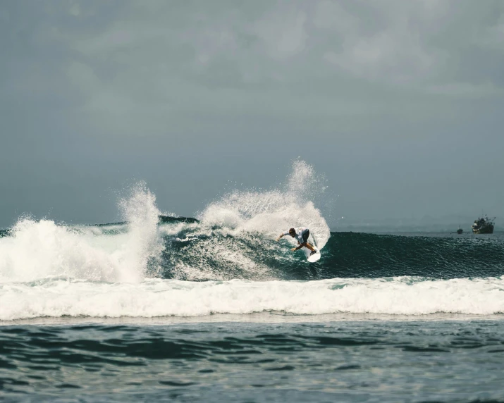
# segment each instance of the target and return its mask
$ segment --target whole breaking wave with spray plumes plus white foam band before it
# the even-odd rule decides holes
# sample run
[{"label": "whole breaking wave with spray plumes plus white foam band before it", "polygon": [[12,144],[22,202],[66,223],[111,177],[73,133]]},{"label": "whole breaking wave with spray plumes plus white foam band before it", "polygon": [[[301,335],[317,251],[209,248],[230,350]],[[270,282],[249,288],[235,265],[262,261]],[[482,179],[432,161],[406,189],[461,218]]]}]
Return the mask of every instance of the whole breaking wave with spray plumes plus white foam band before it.
[{"label": "whole breaking wave with spray plumes plus white foam band before it", "polygon": [[[20,219],[0,233],[0,320],[504,312],[502,235],[331,233],[318,178],[296,161],[285,185],[229,192],[196,218],[161,214],[140,183],[121,223]],[[319,262],[276,242],[293,226],[310,229]]]}]

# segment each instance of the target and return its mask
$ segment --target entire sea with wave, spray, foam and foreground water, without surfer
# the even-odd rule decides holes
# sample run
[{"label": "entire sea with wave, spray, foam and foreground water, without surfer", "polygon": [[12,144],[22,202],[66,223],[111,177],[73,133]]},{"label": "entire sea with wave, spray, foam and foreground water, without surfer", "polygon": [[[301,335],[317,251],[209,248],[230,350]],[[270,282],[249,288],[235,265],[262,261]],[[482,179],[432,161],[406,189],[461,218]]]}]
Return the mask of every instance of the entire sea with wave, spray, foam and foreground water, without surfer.
[{"label": "entire sea with wave, spray, foam and foreground water, without surfer", "polygon": [[2,230],[0,400],[504,402],[503,234],[331,232],[317,178]]}]

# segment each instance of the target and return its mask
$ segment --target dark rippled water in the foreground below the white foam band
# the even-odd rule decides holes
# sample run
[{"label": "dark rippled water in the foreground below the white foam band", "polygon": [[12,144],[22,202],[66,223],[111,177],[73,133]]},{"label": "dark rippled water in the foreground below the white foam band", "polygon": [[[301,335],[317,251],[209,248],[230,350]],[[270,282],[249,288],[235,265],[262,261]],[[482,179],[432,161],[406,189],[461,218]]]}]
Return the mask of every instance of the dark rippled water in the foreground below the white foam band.
[{"label": "dark rippled water in the foreground below the white foam band", "polygon": [[1,399],[504,401],[504,321],[0,327]]}]

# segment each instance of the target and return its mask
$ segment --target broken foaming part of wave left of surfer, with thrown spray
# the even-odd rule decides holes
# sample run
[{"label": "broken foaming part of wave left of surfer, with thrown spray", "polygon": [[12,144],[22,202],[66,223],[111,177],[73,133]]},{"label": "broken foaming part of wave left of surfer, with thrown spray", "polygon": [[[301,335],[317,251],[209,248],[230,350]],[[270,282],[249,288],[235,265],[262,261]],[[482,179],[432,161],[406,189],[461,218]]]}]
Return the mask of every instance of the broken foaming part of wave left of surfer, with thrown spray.
[{"label": "broken foaming part of wave left of surfer, with thrown spray", "polygon": [[0,238],[0,281],[55,275],[136,283],[289,278],[283,268],[299,265],[300,256],[288,253],[292,240],[274,242],[278,234],[307,226],[320,249],[331,236],[314,205],[324,192],[318,178],[312,166],[295,161],[285,186],[229,192],[197,218],[161,214],[143,183],[120,200],[119,223],[72,226],[23,218]]}]

